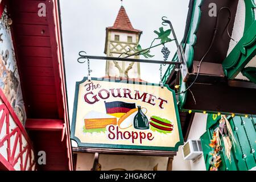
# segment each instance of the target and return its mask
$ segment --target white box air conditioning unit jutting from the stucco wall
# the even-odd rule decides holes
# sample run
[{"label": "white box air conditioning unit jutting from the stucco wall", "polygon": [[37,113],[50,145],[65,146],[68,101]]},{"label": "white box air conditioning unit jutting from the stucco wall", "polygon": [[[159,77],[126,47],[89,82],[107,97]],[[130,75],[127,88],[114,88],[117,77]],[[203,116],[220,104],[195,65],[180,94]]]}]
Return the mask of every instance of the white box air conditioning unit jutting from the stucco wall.
[{"label": "white box air conditioning unit jutting from the stucco wall", "polygon": [[189,139],[182,147],[184,160],[195,160],[203,154],[201,140]]}]

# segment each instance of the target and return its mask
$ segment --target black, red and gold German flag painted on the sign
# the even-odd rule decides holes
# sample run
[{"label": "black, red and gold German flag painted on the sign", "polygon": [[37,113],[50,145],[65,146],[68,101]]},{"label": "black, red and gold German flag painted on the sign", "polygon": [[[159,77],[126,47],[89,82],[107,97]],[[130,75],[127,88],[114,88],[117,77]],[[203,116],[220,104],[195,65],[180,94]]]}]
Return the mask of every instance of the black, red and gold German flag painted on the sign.
[{"label": "black, red and gold German flag painted on the sign", "polygon": [[135,103],[126,103],[121,101],[105,102],[106,113],[113,115],[114,117],[122,117],[131,109],[135,109]]}]

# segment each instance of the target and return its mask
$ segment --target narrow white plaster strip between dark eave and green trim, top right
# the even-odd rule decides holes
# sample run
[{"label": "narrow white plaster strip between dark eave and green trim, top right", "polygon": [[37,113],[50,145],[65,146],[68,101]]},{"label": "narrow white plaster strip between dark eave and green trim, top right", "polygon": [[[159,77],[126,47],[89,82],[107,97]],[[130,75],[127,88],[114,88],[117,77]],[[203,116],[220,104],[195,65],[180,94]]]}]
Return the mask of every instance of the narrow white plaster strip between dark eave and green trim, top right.
[{"label": "narrow white plaster strip between dark eave and green trim, top right", "polygon": [[244,28],[245,28],[245,2],[243,0],[239,0],[237,5],[237,13],[234,20],[232,36],[231,36],[236,41],[230,39],[227,56],[232,51],[232,49],[236,46],[237,42],[239,42],[239,40],[242,38]]}]

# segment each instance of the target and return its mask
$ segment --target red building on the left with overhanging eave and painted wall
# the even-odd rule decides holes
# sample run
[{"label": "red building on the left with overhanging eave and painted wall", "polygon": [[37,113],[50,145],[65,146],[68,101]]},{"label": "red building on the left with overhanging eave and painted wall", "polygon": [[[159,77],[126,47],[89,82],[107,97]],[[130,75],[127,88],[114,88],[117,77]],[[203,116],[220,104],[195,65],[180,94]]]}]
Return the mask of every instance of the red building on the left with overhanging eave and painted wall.
[{"label": "red building on the left with overhanging eave and painted wall", "polygon": [[0,170],[72,170],[57,1],[0,1]]}]

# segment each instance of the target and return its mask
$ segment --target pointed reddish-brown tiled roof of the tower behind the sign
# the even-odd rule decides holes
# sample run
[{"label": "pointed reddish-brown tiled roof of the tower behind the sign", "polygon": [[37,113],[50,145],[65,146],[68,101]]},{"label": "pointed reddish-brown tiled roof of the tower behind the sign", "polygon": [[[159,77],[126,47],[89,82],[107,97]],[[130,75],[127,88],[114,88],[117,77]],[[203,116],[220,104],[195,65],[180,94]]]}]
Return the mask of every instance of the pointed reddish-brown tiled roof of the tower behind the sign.
[{"label": "pointed reddish-brown tiled roof of the tower behind the sign", "polygon": [[142,32],[141,30],[134,29],[131,25],[130,19],[126,14],[125,8],[121,6],[117,18],[115,19],[114,26],[108,27],[109,30],[123,30],[130,32]]}]

